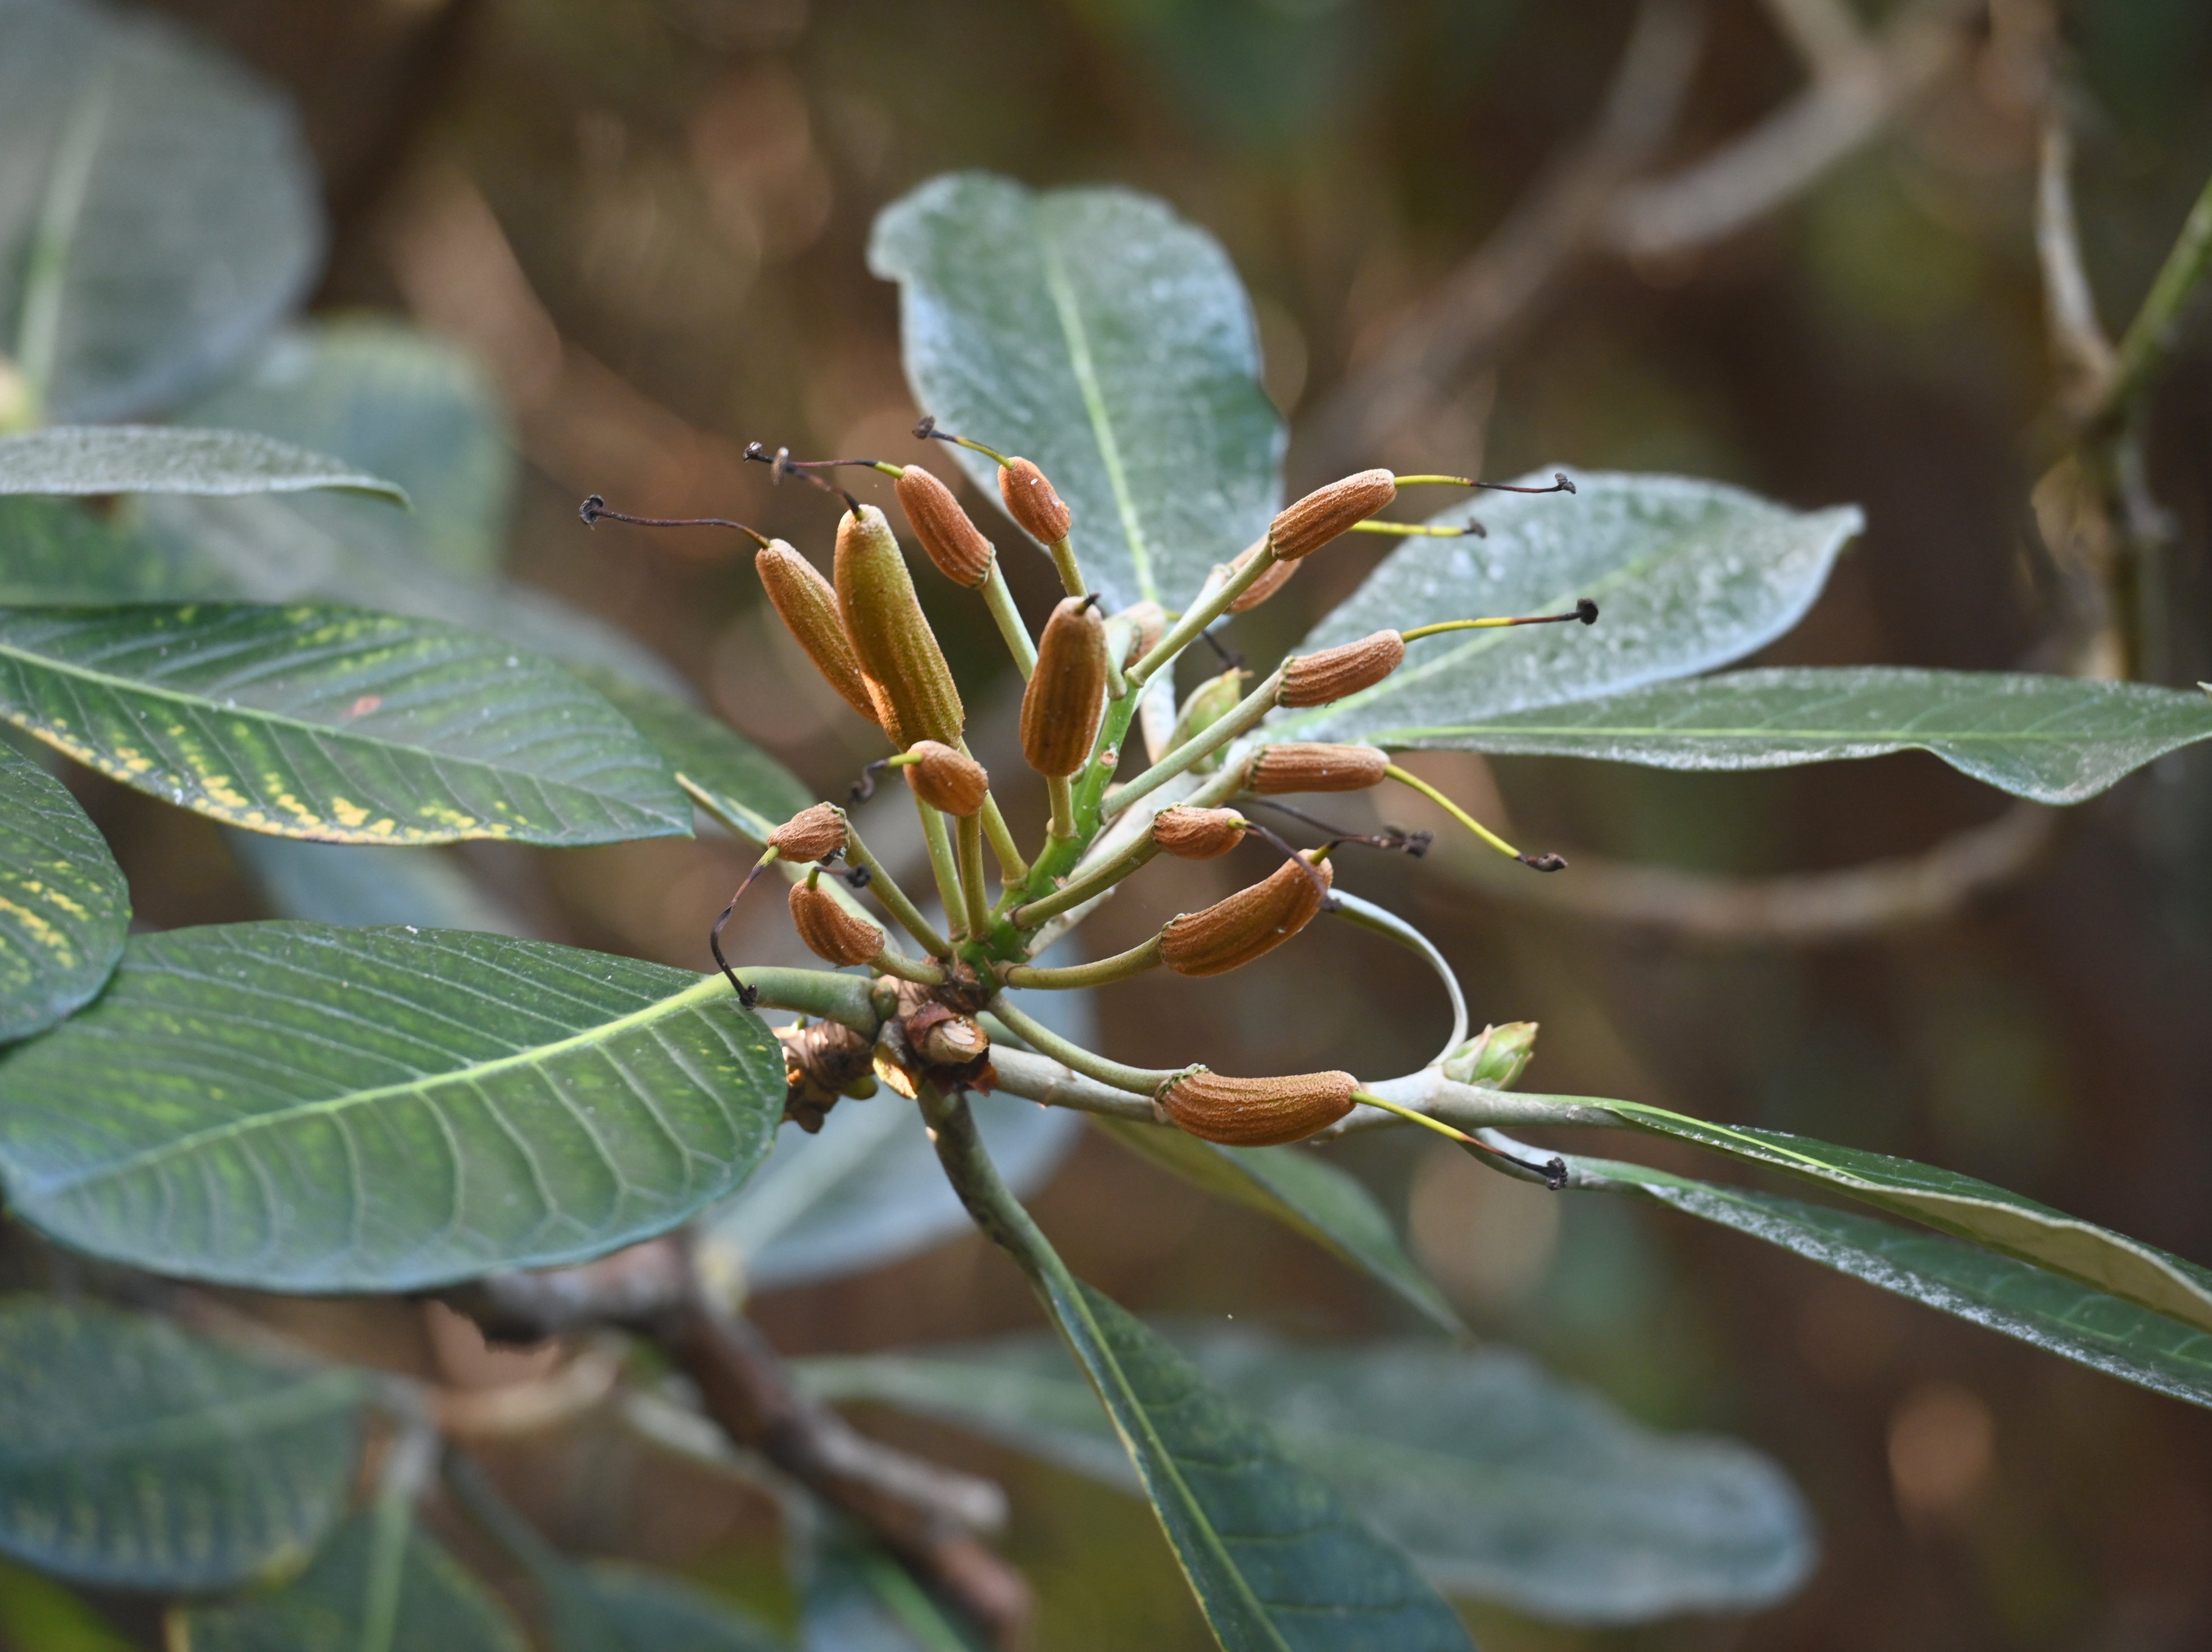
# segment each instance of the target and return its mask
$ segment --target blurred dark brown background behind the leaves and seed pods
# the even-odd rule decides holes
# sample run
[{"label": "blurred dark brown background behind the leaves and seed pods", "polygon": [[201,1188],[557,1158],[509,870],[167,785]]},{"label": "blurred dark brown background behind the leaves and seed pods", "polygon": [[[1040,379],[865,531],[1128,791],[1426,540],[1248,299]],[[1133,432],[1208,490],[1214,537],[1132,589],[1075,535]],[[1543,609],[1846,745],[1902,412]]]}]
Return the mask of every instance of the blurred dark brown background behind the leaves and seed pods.
[{"label": "blurred dark brown background behind the leaves and seed pods", "polygon": [[[894,292],[863,263],[874,212],[938,170],[1126,181],[1212,228],[1254,292],[1267,389],[1294,427],[1292,489],[1356,464],[1506,475],[1557,460],[1719,475],[1798,506],[1856,500],[1865,540],[1763,659],[2048,668],[2057,577],[2028,509],[2055,385],[2033,248],[2048,77],[2073,113],[2086,261],[2115,330],[2212,168],[2201,0],[1918,7],[1944,15],[1947,51],[1807,188],[1694,245],[1559,259],[1511,325],[1413,394],[1376,398],[1363,372],[1433,327],[1467,259],[1593,128],[1630,7],[161,9],[299,97],[334,215],[316,310],[409,314],[482,363],[526,458],[509,571],[659,650],[825,796],[876,752],[801,668],[745,557],[714,535],[588,533],[575,502],[714,511],[821,548],[825,500],[772,491],[739,462],[748,440],[942,464],[907,433]],[[1860,4],[1869,29],[1911,9]],[[1823,11],[1710,0],[1650,164],[1692,164],[1796,97],[1807,71],[1778,24]],[[2170,683],[2212,675],[2208,453],[2199,327],[2148,449],[2172,542],[2146,663]],[[1287,646],[1380,548],[1347,542],[1243,621],[1239,646]],[[1048,599],[1042,557],[1011,575],[1029,606]],[[925,595],[978,743],[1009,745],[1015,683],[980,610],[942,584]],[[1759,776],[1427,765],[1544,847],[1699,874],[1907,856],[1997,812],[1924,756]],[[261,911],[215,827],[111,787],[95,803],[148,924]],[[1425,922],[1478,1020],[1542,1022],[1535,1088],[1913,1154],[2205,1261],[2208,827],[2212,763],[2166,759],[2070,814],[2000,887],[1816,944],[1546,911],[1374,860],[1360,887]],[[518,927],[701,969],[706,920],[741,869],[728,840],[465,858]],[[1159,865],[1093,944],[1128,944],[1230,876]],[[752,909],[732,955],[796,958],[776,905]],[[1433,1048],[1444,1006],[1418,964],[1343,933],[1225,980],[1124,984],[1099,1017],[1104,1048],[1135,1062],[1188,1059],[1203,1037],[1228,1070],[1400,1070]],[[1641,1420],[1772,1451],[1825,1528],[1814,1583],[1756,1619],[1577,1632],[1482,1610],[1486,1648],[2212,1643],[2212,1418],[1719,1230],[1553,1201],[1449,1148],[1367,1139],[1345,1157],[1402,1201],[1420,1256],[1482,1331]],[[1409,1329],[1318,1252],[1099,1139],[1037,1212],[1079,1274],[1148,1314]],[[1033,1322],[1013,1269],[969,1236],[754,1309],[792,1353]],[[285,1311],[347,1353],[458,1384],[498,1384],[522,1358],[400,1303]],[[1040,1590],[1040,1648],[1206,1643],[1141,1504],[951,1431],[865,1420],[1011,1486],[1009,1552]],[[509,1468],[509,1493],[564,1544],[790,1610],[765,1502],[591,1433]],[[93,1645],[40,1588],[0,1575],[0,1634]]]}]

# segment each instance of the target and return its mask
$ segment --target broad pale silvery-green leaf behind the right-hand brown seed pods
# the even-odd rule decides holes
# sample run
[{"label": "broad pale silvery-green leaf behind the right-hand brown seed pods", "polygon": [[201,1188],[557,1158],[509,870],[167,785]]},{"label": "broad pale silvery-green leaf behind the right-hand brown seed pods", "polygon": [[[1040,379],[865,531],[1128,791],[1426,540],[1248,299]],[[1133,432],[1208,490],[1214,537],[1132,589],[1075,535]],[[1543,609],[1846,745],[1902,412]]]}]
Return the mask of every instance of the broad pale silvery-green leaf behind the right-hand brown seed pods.
[{"label": "broad pale silvery-green leaf behind the right-hand brown seed pods", "polygon": [[[1369,741],[1376,730],[1455,728],[1725,666],[1803,619],[1860,531],[1854,506],[1790,511],[1683,475],[1590,471],[1575,487],[1482,495],[1486,540],[1407,540],[1298,648],[1440,619],[1564,613],[1577,597],[1597,602],[1595,626],[1425,637],[1389,679],[1274,717],[1265,736]],[[1436,520],[1467,515],[1462,504]]]}]

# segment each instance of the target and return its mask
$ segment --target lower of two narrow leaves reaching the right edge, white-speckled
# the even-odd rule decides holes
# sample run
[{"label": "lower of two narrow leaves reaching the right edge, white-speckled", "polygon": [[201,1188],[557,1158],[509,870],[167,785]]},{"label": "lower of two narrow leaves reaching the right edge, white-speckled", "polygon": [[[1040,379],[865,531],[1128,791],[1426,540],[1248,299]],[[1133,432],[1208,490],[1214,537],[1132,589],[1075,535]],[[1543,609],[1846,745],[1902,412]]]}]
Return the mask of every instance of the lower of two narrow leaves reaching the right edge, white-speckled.
[{"label": "lower of two narrow leaves reaching the right edge, white-speckled", "polygon": [[1568,1159],[1568,1168],[2121,1382],[2212,1407],[2212,1334],[2042,1267],[1918,1227],[1750,1188],[1719,1188],[1610,1159]]}]

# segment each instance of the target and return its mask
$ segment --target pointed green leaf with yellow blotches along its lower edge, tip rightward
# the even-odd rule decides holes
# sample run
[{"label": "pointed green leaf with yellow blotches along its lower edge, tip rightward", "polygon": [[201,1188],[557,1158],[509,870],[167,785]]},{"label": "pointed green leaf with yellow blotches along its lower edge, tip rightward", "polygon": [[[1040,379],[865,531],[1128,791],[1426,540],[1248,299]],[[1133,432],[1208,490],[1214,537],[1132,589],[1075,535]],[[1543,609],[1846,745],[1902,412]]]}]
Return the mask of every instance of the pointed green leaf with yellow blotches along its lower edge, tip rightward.
[{"label": "pointed green leaf with yellow blotches along its lower edge, tip rightward", "polygon": [[0,717],[139,792],[323,843],[690,834],[659,756],[551,661],[429,619],[0,610]]}]

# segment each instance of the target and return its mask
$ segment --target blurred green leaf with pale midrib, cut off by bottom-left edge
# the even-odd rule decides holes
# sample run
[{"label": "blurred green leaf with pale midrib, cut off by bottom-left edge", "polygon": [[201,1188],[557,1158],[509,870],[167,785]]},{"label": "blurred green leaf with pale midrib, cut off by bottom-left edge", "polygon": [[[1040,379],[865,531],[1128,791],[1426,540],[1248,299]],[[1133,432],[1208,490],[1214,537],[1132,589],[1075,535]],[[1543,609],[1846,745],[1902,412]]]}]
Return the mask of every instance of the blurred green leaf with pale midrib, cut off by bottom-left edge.
[{"label": "blurred green leaf with pale midrib, cut off by bottom-left edge", "polygon": [[356,1515],[296,1581],[170,1614],[188,1652],[526,1652],[507,1608],[407,1510]]}]

